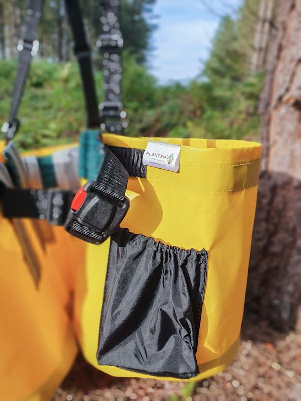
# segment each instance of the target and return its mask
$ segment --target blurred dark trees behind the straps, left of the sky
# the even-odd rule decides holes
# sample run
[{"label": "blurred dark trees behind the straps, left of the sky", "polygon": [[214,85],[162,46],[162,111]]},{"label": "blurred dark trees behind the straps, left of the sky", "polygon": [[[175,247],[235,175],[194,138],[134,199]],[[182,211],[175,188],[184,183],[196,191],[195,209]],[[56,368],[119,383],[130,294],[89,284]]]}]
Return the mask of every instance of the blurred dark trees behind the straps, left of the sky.
[{"label": "blurred dark trees behind the straps, left of the sky", "polygon": [[[152,12],[156,0],[121,0],[121,28],[124,48],[136,56],[138,62],[145,61],[150,47],[150,34],[155,25],[146,19]],[[99,35],[100,0],[80,0],[86,31],[94,54]],[[20,28],[26,8],[25,0],[1,0],[0,4],[0,57],[14,57],[20,39]],[[72,58],[72,38],[64,7],[64,0],[46,0],[39,29],[40,55],[55,61]]]}]

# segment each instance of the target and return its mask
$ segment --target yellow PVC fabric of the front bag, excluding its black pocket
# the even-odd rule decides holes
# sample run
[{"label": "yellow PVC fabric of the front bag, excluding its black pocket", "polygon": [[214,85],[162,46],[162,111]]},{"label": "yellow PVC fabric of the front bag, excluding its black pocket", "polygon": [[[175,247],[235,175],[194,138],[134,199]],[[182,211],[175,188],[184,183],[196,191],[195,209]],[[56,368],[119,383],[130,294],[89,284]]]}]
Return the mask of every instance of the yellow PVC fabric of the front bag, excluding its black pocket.
[{"label": "yellow PVC fabric of the front bag, excluding its black pocket", "polygon": [[[189,379],[199,380],[223,370],[237,351],[261,145],[234,140],[154,140],[181,145],[179,172],[147,167],[146,179],[130,177],[126,195],[131,204],[122,227],[165,244],[208,251],[196,353],[200,374]],[[111,134],[103,135],[103,142],[138,149],[147,145],[146,138]],[[77,336],[86,359],[97,369],[113,376],[150,377],[99,366],[96,360],[109,245],[109,240],[100,246],[88,244],[85,268],[77,271]]]}]

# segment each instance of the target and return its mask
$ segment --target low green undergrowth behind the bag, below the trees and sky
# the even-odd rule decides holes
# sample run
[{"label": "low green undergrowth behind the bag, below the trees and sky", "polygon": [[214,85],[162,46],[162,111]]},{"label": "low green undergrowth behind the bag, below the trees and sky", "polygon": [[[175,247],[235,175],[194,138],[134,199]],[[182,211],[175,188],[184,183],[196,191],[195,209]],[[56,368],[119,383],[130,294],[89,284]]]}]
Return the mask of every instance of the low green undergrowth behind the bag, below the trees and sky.
[{"label": "low green undergrowth behind the bag, below the trees and sky", "polygon": [[[156,80],[133,56],[126,56],[124,103],[131,136],[204,138],[256,137],[256,104],[261,78],[241,83],[192,81],[156,85]],[[15,72],[12,61],[0,62],[0,120],[6,121]],[[96,74],[99,100],[102,76]],[[16,144],[28,149],[77,139],[85,127],[85,106],[75,63],[33,63],[19,112],[21,128]]]}]

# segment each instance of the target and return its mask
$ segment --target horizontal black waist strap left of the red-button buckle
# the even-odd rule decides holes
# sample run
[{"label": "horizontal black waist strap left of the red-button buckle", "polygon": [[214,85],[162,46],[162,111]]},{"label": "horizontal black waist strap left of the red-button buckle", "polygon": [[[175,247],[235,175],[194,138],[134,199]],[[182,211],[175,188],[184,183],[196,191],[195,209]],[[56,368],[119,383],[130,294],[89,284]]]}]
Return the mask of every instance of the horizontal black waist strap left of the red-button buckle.
[{"label": "horizontal black waist strap left of the red-button buckle", "polygon": [[69,212],[74,192],[3,188],[2,207],[6,218],[32,218],[63,225]]}]

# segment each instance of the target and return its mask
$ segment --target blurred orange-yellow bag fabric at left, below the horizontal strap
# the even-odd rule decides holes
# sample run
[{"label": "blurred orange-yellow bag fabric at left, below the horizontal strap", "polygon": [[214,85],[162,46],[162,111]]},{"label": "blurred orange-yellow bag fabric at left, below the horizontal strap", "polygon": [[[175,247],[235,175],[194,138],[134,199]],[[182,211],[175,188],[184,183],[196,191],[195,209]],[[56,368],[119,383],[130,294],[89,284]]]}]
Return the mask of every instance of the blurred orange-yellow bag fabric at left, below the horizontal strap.
[{"label": "blurred orange-yellow bag fabric at left, below the horizontal strap", "polygon": [[43,243],[37,222],[0,216],[0,388],[6,401],[49,400],[77,353],[72,292],[85,247],[63,227],[45,227]]}]

